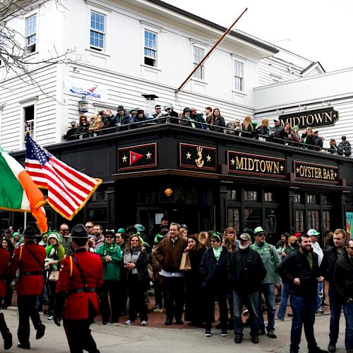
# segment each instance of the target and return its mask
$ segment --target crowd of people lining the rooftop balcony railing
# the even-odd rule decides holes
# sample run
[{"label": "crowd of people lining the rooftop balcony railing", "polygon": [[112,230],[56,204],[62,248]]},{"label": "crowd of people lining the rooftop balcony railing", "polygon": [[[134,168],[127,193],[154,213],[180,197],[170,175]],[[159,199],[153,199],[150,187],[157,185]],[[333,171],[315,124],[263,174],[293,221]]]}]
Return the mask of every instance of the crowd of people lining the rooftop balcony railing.
[{"label": "crowd of people lining the rooftop balcony railing", "polygon": [[163,124],[169,121],[172,124],[191,126],[193,128],[207,129],[218,133],[228,133],[234,136],[253,138],[256,140],[266,140],[284,145],[306,148],[309,150],[327,150],[333,155],[351,155],[351,146],[346,136],[342,136],[342,141],[336,145],[334,138],[330,139],[329,148],[323,148],[322,136],[318,131],[313,131],[311,126],[299,134],[298,126],[281,124],[281,121],[274,119],[274,126],[270,127],[270,120],[263,119],[261,123],[252,121],[251,116],[246,116],[244,121],[236,118],[226,124],[220,109],[205,107],[205,116],[198,112],[196,107],[185,107],[183,112],[174,111],[172,104],[164,105],[164,112],[160,104],[155,105],[155,113],[147,116],[143,109],[137,107],[125,109],[122,105],[117,108],[116,115],[110,109],[101,110],[93,114],[88,121],[85,115],[80,116],[79,123],[71,121],[71,128],[64,134],[64,139],[74,140],[78,138],[88,138],[101,133],[112,133],[124,131],[130,128],[140,128],[151,124]]}]

